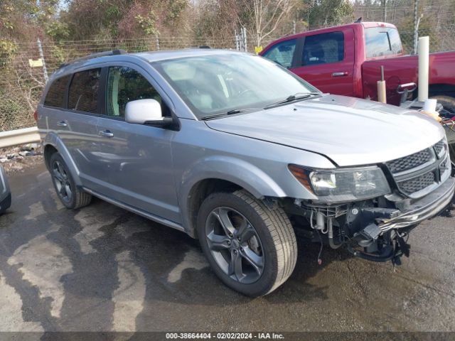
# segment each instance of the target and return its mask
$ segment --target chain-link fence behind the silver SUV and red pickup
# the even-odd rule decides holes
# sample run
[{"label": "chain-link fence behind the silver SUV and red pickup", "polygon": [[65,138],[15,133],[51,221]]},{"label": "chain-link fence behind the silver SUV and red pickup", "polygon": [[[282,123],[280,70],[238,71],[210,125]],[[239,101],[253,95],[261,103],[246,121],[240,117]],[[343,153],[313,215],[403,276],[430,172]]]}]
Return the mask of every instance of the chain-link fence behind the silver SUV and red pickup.
[{"label": "chain-link fence behind the silver SUV and red pickup", "polygon": [[[414,33],[402,32],[405,53],[412,53]],[[274,37],[278,38],[278,37]],[[263,46],[274,40],[268,38]],[[431,37],[432,52],[455,50],[455,27]],[[247,43],[248,41],[248,43]],[[254,46],[245,40],[250,52]],[[46,74],[50,75],[62,63],[90,53],[121,48],[130,53],[147,50],[173,50],[208,45],[211,48],[238,49],[238,37],[226,36],[210,39],[153,37],[132,40],[85,40],[53,43],[43,41],[21,43],[11,55],[0,54],[0,131],[34,126],[33,112],[45,86]],[[242,47],[241,47],[242,48]]]}]

